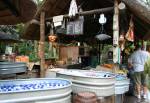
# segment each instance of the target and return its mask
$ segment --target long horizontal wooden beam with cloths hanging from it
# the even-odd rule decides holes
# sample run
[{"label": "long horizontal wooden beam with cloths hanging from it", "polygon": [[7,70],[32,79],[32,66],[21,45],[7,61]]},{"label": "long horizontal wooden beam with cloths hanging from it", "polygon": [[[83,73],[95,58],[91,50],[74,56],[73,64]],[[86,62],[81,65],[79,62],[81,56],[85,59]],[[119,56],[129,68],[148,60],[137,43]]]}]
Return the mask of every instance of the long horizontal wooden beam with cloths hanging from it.
[{"label": "long horizontal wooden beam with cloths hanging from it", "polygon": [[[90,15],[90,14],[99,14],[99,13],[106,13],[106,12],[110,12],[113,11],[114,7],[107,7],[107,8],[101,8],[101,9],[95,9],[95,10],[90,10],[90,11],[83,11],[83,12],[79,12],[77,13],[77,15],[81,15],[81,16],[86,16],[86,15]],[[69,15],[63,15],[64,18],[68,18]],[[52,20],[52,17],[50,18],[46,18],[47,21]]]}]

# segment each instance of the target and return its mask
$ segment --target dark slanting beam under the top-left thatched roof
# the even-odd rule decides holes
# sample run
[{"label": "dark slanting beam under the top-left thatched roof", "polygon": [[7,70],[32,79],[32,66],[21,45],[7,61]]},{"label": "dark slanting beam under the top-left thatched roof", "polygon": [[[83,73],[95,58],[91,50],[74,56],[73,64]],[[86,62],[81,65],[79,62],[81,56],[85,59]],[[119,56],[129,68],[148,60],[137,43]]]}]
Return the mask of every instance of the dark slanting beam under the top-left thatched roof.
[{"label": "dark slanting beam under the top-left thatched roof", "polygon": [[11,0],[2,0],[2,2],[9,8],[13,15],[19,16],[19,11],[16,6],[10,2]]}]

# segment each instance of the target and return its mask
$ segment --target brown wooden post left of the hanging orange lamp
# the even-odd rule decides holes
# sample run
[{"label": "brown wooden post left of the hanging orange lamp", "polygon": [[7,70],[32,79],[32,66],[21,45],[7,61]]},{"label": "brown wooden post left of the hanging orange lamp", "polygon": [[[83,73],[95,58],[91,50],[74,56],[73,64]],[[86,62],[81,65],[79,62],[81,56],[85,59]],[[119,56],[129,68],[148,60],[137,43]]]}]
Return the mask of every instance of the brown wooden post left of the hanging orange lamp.
[{"label": "brown wooden post left of the hanging orange lamp", "polygon": [[45,77],[45,57],[44,57],[44,42],[45,42],[45,12],[40,15],[40,42],[39,42],[39,57],[40,57],[40,77]]}]

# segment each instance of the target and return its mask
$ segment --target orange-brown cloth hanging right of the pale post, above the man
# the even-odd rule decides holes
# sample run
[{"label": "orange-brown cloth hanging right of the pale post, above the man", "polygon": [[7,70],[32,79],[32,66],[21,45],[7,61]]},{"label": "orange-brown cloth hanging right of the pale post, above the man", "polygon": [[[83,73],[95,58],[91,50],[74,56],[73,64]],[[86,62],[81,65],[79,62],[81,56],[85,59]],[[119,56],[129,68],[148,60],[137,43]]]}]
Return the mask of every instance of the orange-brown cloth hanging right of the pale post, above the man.
[{"label": "orange-brown cloth hanging right of the pale post, above the man", "polygon": [[128,41],[134,42],[134,24],[133,24],[132,17],[130,19],[129,29],[125,37]]}]

